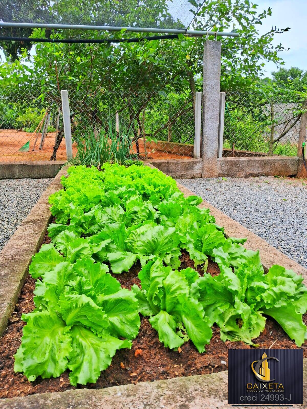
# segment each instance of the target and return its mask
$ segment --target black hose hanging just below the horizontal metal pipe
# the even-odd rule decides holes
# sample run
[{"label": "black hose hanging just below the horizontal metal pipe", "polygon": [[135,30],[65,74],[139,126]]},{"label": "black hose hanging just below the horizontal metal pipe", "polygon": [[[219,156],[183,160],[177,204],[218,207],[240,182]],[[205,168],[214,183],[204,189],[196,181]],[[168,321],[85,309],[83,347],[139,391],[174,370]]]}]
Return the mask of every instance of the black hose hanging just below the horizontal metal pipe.
[{"label": "black hose hanging just below the horizontal metal pipe", "polygon": [[152,40],[164,40],[166,38],[177,38],[178,39],[178,34],[168,34],[165,36],[151,36],[151,37],[140,37],[140,38],[127,38],[126,40],[124,38],[120,39],[109,39],[109,38],[102,38],[102,39],[95,39],[95,38],[90,38],[90,39],[83,39],[80,38],[74,39],[74,38],[29,38],[29,37],[0,37],[0,41],[24,41],[26,43],[73,43],[73,44],[79,44],[79,43],[85,43],[85,44],[103,44],[103,43],[138,43],[142,40],[147,40],[147,41],[152,41]]}]

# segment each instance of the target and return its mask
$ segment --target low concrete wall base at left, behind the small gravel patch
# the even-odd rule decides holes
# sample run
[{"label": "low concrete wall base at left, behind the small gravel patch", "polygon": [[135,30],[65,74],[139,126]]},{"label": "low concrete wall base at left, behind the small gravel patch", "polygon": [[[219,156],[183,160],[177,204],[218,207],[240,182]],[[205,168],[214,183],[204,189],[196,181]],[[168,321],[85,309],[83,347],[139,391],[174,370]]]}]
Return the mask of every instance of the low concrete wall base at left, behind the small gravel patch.
[{"label": "low concrete wall base at left, behind the small gravel patch", "polygon": [[54,178],[65,161],[0,162],[0,179]]}]

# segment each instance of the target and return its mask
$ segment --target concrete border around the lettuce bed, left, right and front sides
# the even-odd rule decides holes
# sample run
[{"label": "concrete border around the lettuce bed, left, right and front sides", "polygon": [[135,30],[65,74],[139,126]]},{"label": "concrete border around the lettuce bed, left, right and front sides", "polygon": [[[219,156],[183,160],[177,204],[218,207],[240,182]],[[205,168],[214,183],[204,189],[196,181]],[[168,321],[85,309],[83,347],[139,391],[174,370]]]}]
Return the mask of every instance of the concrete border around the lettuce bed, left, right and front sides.
[{"label": "concrete border around the lettuce bed, left, right and front sides", "polygon": [[[154,168],[149,162],[145,165]],[[62,169],[45,190],[27,218],[11,237],[0,253],[0,336],[7,328],[7,322],[14,310],[20,290],[28,274],[29,263],[43,242],[51,219],[48,197],[62,188]],[[194,193],[177,183],[185,197]],[[226,236],[246,237],[245,247],[259,249],[265,270],[273,264],[291,268],[304,277],[307,283],[307,270],[295,261],[276,250],[265,240],[251,233],[224,213],[203,201],[200,207],[209,207],[217,224],[224,226]],[[106,389],[75,389],[64,392],[42,393],[27,397],[0,400],[1,409],[226,409],[228,373],[222,371],[212,375],[195,375],[155,382],[109,387]],[[304,359],[304,404],[307,406],[307,359]],[[299,409],[301,405],[294,405]],[[260,408],[260,407],[258,407]]]}]

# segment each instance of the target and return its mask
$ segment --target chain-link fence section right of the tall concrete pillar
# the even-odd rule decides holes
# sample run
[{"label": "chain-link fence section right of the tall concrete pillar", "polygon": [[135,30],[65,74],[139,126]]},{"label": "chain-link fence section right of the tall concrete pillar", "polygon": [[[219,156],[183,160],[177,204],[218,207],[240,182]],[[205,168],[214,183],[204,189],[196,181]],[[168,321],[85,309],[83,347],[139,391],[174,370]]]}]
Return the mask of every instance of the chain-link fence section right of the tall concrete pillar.
[{"label": "chain-link fence section right of the tall concrete pillar", "polygon": [[302,101],[226,92],[223,157],[297,155]]}]

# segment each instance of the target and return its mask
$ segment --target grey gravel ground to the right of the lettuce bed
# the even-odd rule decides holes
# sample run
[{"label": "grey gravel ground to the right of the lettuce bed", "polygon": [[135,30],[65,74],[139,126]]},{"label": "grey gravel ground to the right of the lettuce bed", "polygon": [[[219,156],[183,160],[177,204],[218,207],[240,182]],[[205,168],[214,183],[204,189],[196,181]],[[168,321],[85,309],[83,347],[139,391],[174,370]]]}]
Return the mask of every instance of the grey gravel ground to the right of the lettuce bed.
[{"label": "grey gravel ground to the right of the lettuce bed", "polygon": [[291,178],[179,179],[307,268],[307,184]]}]

